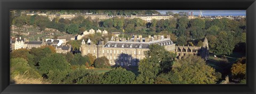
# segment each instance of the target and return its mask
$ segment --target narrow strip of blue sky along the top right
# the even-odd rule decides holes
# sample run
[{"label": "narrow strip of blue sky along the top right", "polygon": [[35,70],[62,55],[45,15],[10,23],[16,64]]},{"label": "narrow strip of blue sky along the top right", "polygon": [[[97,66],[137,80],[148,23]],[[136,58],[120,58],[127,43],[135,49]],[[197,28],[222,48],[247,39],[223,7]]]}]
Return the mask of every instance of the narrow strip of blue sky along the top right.
[{"label": "narrow strip of blue sky along the top right", "polygon": [[[173,13],[179,13],[179,12],[193,12],[193,15],[199,15],[200,11],[199,10],[156,10],[160,12],[161,14],[165,14],[168,11],[171,11]],[[206,16],[227,16],[227,15],[246,15],[246,10],[201,10],[203,15]]]}]

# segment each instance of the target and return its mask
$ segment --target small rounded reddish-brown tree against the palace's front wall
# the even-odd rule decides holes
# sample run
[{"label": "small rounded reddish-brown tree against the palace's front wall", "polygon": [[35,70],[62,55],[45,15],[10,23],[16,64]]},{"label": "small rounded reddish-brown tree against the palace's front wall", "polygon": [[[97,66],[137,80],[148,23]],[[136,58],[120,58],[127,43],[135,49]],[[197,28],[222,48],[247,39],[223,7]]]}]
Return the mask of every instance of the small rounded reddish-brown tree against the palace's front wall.
[{"label": "small rounded reddish-brown tree against the palace's front wall", "polygon": [[108,58],[103,56],[95,59],[94,66],[96,68],[104,68],[104,67],[110,67],[110,64],[109,64]]}]

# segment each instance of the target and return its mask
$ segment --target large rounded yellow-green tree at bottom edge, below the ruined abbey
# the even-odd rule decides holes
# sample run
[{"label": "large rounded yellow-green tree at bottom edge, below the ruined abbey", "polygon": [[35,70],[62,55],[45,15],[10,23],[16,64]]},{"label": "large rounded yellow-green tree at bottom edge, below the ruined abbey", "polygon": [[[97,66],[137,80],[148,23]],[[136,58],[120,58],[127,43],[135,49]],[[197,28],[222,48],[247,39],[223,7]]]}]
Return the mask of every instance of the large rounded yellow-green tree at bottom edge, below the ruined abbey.
[{"label": "large rounded yellow-green tree at bottom edge, below the ruined abbey", "polygon": [[215,70],[199,56],[191,55],[175,62],[172,71],[172,75],[178,77],[178,82],[185,84],[214,84],[218,81]]}]

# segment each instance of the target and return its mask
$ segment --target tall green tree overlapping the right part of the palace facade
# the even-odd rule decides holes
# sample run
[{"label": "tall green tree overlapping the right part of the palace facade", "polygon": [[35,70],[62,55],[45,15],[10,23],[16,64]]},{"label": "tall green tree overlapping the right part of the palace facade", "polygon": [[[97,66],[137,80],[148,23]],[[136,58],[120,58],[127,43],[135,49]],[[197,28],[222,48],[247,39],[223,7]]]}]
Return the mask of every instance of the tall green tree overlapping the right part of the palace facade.
[{"label": "tall green tree overlapping the right part of the palace facade", "polygon": [[150,45],[145,55],[146,58],[139,63],[140,74],[137,83],[154,83],[159,73],[167,73],[171,70],[176,56],[160,45]]}]

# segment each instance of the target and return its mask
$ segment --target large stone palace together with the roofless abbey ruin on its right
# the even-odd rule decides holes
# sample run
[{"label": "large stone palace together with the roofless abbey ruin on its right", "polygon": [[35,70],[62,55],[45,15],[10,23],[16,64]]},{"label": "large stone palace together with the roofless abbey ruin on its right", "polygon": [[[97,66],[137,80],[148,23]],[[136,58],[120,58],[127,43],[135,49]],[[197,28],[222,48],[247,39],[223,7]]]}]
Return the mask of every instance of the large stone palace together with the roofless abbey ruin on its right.
[{"label": "large stone palace together with the roofless abbey ruin on its right", "polygon": [[106,44],[102,44],[99,40],[94,44],[90,39],[82,41],[81,54],[92,54],[94,56],[106,56],[110,65],[135,66],[138,65],[140,59],[145,57],[145,51],[149,50],[149,45],[161,45],[170,52],[177,53],[177,59],[182,59],[185,55],[198,55],[205,60],[209,57],[209,45],[205,38],[202,47],[192,46],[175,46],[170,36],[154,36],[142,38],[142,36],[134,36],[131,39],[112,38]]}]

